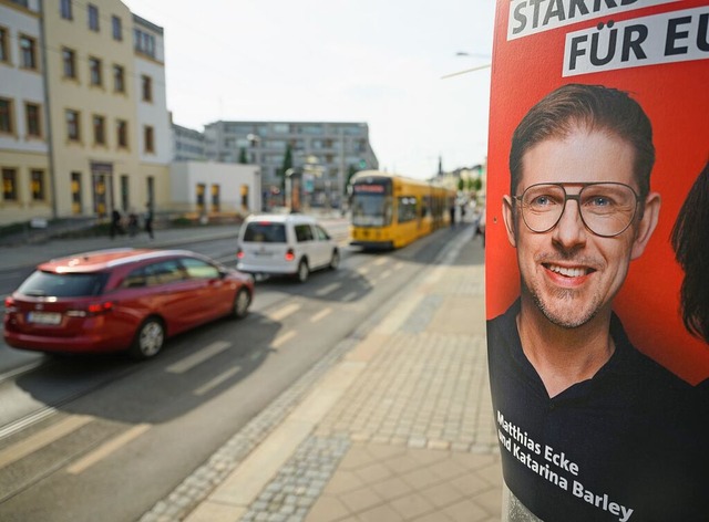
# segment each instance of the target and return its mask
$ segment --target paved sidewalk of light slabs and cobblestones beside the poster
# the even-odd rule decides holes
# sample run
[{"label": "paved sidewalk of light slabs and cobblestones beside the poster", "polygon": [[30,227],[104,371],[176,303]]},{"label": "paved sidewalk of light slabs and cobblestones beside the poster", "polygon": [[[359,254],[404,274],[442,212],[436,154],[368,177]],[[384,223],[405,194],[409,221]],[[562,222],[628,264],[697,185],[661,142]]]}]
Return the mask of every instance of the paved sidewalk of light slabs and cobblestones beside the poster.
[{"label": "paved sidewalk of light slabs and cobblestones beside the poster", "polygon": [[388,310],[142,522],[501,520],[473,227]]}]

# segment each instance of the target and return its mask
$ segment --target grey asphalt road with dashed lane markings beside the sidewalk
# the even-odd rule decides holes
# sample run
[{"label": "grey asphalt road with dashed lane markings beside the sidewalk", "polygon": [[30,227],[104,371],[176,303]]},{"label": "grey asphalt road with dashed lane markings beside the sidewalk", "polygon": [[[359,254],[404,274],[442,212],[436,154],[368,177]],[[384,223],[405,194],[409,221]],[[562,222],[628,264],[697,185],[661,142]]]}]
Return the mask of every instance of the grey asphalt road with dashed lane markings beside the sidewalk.
[{"label": "grey asphalt road with dashed lane markings beside the sidewalk", "polygon": [[[454,232],[390,253],[343,248],[305,284],[257,282],[250,314],[155,359],[0,346],[0,520],[134,521],[341,343],[362,335]],[[197,248],[195,248],[197,247]],[[233,240],[189,246],[234,263]]]}]

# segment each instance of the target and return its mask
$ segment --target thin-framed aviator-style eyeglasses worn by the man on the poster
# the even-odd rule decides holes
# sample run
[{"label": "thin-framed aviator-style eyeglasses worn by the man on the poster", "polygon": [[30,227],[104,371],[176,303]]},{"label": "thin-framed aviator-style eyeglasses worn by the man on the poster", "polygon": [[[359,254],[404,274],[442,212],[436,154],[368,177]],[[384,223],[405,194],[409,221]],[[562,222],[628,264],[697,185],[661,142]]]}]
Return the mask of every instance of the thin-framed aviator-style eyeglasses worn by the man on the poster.
[{"label": "thin-framed aviator-style eyeglasses worn by the man on the poster", "polygon": [[[578,194],[566,194],[565,186],[582,187]],[[552,230],[562,219],[566,201],[578,203],[584,226],[596,236],[613,238],[633,222],[640,198],[624,184],[562,182],[537,184],[514,196],[522,208],[522,219],[530,230],[542,233]]]}]

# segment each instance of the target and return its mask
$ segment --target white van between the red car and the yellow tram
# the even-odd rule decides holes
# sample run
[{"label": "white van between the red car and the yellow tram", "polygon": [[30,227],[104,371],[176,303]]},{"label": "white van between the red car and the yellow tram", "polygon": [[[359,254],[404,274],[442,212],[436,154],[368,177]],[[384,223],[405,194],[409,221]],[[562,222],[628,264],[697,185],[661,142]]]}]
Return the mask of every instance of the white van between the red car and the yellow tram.
[{"label": "white van between the red car and the yellow tram", "polygon": [[239,229],[236,268],[243,272],[294,275],[305,282],[310,272],[337,269],[340,250],[310,216],[249,216]]}]

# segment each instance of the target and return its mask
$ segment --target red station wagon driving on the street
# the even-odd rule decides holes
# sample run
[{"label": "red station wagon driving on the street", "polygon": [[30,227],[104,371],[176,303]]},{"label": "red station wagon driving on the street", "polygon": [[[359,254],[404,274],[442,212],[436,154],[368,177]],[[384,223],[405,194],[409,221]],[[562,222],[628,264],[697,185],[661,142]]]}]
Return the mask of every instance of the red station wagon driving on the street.
[{"label": "red station wagon driving on the street", "polygon": [[188,250],[110,249],[44,262],[4,301],[4,342],[155,356],[167,337],[247,314],[254,279]]}]

